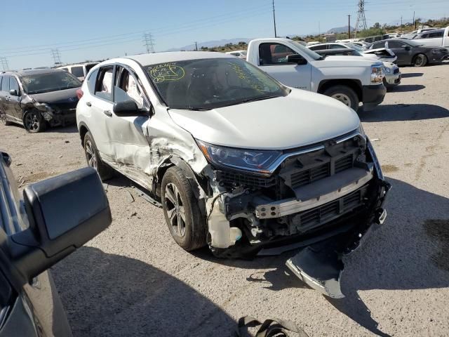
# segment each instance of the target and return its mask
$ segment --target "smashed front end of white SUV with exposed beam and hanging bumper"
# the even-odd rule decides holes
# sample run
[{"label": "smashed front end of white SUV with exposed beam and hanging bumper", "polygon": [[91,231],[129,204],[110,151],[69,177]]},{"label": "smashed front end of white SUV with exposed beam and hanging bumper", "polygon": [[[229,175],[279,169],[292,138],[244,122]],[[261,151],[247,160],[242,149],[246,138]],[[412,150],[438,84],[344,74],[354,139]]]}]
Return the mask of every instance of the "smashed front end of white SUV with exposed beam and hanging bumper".
[{"label": "smashed front end of white SUV with exposed beam and hanging bumper", "polygon": [[271,174],[214,171],[221,192],[208,201],[210,248],[216,256],[245,258],[307,247],[288,260],[290,270],[341,297],[341,257],[383,223],[391,186],[358,130],[283,152],[279,161]]}]

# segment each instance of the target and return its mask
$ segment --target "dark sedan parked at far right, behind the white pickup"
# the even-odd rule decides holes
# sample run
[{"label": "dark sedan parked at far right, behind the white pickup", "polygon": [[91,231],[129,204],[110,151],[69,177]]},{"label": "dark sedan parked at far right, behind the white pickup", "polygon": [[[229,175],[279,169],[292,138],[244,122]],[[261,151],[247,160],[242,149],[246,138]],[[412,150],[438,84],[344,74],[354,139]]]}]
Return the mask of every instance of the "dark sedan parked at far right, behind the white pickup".
[{"label": "dark sedan parked at far right, behind the white pickup", "polygon": [[377,48],[391,49],[398,57],[397,65],[424,67],[428,63],[438,63],[449,58],[449,51],[446,48],[422,46],[407,39],[388,39],[368,46],[368,49]]}]

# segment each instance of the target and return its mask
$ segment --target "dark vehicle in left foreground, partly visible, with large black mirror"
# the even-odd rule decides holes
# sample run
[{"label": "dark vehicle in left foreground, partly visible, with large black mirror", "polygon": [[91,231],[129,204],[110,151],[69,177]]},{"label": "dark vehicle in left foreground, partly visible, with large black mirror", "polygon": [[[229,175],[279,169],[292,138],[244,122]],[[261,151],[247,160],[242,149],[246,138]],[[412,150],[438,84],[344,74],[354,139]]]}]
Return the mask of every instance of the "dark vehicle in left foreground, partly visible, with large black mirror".
[{"label": "dark vehicle in left foreground, partly visible, with large black mirror", "polygon": [[0,337],[72,336],[48,269],[111,223],[105,191],[85,168],[20,197],[10,165],[0,152]]}]

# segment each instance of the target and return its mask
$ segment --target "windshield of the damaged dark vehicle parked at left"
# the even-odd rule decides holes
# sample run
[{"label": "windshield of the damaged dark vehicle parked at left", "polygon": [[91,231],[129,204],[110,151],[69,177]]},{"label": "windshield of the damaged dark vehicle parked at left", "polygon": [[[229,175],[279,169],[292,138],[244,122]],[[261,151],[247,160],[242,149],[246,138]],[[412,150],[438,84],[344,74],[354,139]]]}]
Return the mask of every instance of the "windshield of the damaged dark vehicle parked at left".
[{"label": "windshield of the damaged dark vehicle parked at left", "polygon": [[78,88],[81,81],[68,72],[47,72],[20,78],[25,93],[49,93],[51,91]]}]

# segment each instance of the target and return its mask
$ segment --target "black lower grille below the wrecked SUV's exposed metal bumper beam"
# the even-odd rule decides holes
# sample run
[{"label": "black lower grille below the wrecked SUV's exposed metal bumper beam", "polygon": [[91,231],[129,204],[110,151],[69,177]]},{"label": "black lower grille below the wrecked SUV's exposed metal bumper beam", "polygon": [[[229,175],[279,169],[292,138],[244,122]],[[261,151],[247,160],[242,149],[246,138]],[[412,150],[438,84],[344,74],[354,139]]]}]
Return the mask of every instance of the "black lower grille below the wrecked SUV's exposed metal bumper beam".
[{"label": "black lower grille below the wrecked SUV's exposed metal bumper beam", "polygon": [[326,223],[329,220],[340,216],[342,213],[347,213],[356,209],[358,206],[361,206],[363,204],[363,196],[366,194],[367,190],[368,186],[361,187],[355,192],[347,194],[340,199],[299,213],[294,216],[294,222],[298,223],[302,230]]}]

